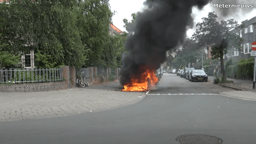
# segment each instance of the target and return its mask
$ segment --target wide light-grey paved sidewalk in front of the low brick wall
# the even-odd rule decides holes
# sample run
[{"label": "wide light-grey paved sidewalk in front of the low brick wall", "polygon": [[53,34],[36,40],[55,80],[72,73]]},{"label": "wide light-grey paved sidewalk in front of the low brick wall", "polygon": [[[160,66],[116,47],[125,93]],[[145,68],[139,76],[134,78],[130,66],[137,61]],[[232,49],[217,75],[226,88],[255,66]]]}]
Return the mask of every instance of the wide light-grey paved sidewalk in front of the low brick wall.
[{"label": "wide light-grey paved sidewalk in front of the low brick wall", "polygon": [[0,122],[109,110],[137,103],[145,96],[145,92],[88,87],[41,92],[0,92]]}]

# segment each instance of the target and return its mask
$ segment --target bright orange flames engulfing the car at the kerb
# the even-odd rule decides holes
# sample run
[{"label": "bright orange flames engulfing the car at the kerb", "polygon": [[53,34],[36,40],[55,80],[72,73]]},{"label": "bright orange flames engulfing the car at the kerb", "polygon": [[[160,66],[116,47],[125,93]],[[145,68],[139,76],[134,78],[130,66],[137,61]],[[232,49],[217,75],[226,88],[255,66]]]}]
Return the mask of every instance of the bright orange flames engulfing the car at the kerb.
[{"label": "bright orange flames engulfing the car at the kerb", "polygon": [[154,70],[146,70],[140,79],[132,78],[132,83],[125,85],[122,91],[147,91],[150,90],[151,86],[156,85],[157,82],[158,78],[156,77]]}]

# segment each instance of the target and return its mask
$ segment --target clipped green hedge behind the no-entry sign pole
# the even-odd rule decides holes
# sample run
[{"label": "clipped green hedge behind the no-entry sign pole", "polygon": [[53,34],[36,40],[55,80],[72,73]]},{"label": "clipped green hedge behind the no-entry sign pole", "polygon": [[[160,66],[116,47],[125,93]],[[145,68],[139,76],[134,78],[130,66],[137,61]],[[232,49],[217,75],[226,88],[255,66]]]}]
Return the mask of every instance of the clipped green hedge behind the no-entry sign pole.
[{"label": "clipped green hedge behind the no-entry sign pole", "polygon": [[236,75],[237,78],[253,78],[253,66],[254,62],[242,61],[236,64]]}]

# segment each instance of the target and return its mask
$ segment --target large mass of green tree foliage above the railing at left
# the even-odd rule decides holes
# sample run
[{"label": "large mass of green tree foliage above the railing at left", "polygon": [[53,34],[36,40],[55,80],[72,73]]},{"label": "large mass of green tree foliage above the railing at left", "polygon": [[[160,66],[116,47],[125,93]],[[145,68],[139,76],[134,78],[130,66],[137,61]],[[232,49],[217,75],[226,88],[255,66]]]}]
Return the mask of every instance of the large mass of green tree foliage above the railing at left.
[{"label": "large mass of green tree foliage above the railing at left", "polygon": [[108,66],[108,43],[120,46],[110,40],[112,16],[109,0],[12,0],[0,4],[1,48],[14,55],[34,49],[41,67]]}]

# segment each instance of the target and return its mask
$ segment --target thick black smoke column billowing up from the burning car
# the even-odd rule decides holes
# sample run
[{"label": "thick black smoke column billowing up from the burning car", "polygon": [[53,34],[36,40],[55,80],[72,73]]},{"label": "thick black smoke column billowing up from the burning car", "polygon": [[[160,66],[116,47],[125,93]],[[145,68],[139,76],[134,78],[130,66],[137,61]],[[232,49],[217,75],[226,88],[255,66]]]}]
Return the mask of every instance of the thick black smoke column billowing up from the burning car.
[{"label": "thick black smoke column billowing up from the burning car", "polygon": [[120,83],[131,83],[147,69],[156,70],[166,51],[183,42],[187,26],[193,26],[192,7],[201,9],[209,0],[147,0],[148,9],[136,18],[134,34],[126,40]]}]

